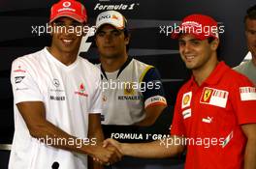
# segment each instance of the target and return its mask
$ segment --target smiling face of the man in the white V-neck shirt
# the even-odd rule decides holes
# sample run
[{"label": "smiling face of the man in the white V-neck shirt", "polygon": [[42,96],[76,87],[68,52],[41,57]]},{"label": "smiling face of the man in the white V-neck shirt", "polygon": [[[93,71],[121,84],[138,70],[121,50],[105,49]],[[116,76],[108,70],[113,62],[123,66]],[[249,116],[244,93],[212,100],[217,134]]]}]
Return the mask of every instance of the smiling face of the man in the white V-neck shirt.
[{"label": "smiling face of the man in the white V-neck shirt", "polygon": [[60,17],[53,21],[51,26],[53,30],[51,47],[60,52],[79,50],[83,24],[70,17]]}]

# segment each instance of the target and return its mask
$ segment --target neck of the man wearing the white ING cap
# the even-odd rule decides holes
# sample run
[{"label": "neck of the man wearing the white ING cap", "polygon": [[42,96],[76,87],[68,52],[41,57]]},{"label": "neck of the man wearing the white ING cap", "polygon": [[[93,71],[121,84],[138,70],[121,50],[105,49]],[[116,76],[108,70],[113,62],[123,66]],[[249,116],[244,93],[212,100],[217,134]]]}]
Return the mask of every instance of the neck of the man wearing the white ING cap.
[{"label": "neck of the man wearing the white ING cap", "polygon": [[127,59],[128,59],[127,54],[125,54],[123,57],[117,57],[117,58],[105,58],[105,57],[100,58],[102,68],[107,72],[120,70],[120,68],[127,61]]}]

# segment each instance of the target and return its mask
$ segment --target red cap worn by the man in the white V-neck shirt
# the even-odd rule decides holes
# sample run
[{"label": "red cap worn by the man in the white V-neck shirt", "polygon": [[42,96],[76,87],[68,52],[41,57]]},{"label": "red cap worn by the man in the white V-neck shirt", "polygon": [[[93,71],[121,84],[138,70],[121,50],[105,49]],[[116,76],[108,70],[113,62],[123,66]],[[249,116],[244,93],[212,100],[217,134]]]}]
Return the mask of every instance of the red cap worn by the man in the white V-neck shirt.
[{"label": "red cap worn by the man in the white V-neck shirt", "polygon": [[87,22],[87,14],[84,6],[76,0],[60,0],[50,9],[49,22],[61,16],[71,17],[80,23]]}]

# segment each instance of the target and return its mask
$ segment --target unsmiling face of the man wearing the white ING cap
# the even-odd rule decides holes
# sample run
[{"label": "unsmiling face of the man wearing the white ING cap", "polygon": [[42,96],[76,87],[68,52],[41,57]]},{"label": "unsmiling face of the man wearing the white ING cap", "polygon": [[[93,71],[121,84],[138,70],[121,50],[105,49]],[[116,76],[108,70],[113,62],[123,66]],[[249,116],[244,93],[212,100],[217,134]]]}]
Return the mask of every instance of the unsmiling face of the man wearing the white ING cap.
[{"label": "unsmiling face of the man wearing the white ING cap", "polygon": [[125,55],[129,37],[125,37],[123,31],[106,24],[97,31],[95,42],[101,57],[116,58]]}]

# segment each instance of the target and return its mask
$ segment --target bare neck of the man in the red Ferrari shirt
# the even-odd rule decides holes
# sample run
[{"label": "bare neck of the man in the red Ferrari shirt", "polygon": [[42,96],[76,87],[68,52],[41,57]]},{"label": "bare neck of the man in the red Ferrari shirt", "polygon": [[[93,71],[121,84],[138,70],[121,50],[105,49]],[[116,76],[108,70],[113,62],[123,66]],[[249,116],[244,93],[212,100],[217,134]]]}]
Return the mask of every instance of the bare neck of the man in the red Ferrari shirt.
[{"label": "bare neck of the man in the red Ferrari shirt", "polygon": [[195,81],[199,86],[208,78],[209,74],[216,68],[218,65],[217,57],[211,57],[202,68],[197,70],[192,70],[195,77]]}]

